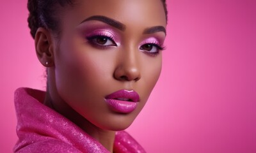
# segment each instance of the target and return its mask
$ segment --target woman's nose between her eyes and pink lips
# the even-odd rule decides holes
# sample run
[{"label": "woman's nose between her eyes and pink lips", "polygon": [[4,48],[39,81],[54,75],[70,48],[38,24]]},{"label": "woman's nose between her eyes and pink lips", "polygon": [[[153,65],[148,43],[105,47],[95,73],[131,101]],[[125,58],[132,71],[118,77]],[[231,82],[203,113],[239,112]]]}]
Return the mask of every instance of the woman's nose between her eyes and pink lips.
[{"label": "woman's nose between her eyes and pink lips", "polygon": [[140,80],[141,72],[138,54],[125,54],[116,66],[114,77],[120,81]]}]

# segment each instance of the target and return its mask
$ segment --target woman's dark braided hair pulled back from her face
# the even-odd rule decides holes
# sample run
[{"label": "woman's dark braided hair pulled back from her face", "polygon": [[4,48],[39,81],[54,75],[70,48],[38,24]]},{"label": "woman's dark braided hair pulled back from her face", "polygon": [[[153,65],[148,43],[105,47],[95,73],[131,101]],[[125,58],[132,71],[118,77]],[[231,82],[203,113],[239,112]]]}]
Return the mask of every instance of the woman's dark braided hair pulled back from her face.
[{"label": "woman's dark braided hair pulled back from her face", "polygon": [[[38,27],[45,27],[59,33],[59,22],[56,17],[56,6],[64,7],[67,4],[72,6],[75,0],[28,0],[28,25],[30,33],[35,38]],[[164,6],[164,12],[167,22],[166,0],[161,0]]]}]

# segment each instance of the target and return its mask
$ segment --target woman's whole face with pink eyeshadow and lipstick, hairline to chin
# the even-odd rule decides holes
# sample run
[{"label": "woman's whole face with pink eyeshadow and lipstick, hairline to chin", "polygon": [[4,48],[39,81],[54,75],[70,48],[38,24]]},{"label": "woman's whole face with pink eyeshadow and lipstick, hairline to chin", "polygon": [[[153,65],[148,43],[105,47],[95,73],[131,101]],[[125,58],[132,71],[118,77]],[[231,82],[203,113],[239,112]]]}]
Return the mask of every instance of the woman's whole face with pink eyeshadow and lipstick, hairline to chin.
[{"label": "woman's whole face with pink eyeshadow and lipstick, hairline to chin", "polygon": [[76,1],[59,18],[53,75],[58,95],[53,97],[101,129],[129,127],[161,72],[163,3]]}]

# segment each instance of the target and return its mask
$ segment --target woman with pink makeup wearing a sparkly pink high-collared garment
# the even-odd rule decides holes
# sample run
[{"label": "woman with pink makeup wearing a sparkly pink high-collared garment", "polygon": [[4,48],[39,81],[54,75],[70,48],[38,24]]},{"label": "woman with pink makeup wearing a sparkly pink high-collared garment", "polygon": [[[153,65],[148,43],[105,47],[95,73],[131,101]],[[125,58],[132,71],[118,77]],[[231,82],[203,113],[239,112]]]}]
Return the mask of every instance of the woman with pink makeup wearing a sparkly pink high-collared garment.
[{"label": "woman with pink makeup wearing a sparkly pink high-collared garment", "polygon": [[29,0],[28,9],[47,91],[15,92],[14,152],[145,152],[122,130],[159,78],[165,1]]}]

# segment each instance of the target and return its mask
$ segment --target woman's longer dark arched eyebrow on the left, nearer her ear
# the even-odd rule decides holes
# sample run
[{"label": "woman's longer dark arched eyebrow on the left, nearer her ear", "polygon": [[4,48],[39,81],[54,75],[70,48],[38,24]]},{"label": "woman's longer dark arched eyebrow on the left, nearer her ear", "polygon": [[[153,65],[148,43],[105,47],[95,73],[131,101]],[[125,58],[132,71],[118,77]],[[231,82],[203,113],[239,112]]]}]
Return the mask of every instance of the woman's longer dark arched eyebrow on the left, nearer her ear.
[{"label": "woman's longer dark arched eyebrow on the left, nearer her ear", "polygon": [[85,20],[83,20],[81,22],[81,24],[83,22],[86,22],[86,21],[89,21],[89,20],[99,20],[99,21],[104,22],[108,25],[111,25],[112,27],[116,27],[117,29],[120,29],[121,31],[125,31],[125,25],[122,24],[121,22],[118,22],[118,21],[116,21],[112,18],[109,18],[109,17],[100,16],[100,15],[95,15],[95,16],[92,16],[92,17],[88,17]]}]

